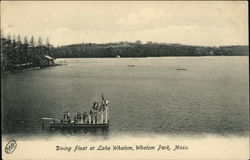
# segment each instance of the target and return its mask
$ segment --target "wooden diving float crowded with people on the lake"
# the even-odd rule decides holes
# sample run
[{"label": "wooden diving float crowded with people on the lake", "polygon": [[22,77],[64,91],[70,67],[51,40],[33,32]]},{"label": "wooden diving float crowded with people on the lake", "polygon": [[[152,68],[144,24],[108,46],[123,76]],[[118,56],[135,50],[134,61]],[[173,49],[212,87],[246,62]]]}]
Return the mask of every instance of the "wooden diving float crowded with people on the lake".
[{"label": "wooden diving float crowded with people on the lake", "polygon": [[42,118],[42,127],[45,128],[45,120],[52,120],[49,128],[54,129],[107,129],[109,127],[109,101],[102,94],[101,102],[94,102],[90,111],[76,112],[73,118],[70,113],[64,112],[62,118]]}]

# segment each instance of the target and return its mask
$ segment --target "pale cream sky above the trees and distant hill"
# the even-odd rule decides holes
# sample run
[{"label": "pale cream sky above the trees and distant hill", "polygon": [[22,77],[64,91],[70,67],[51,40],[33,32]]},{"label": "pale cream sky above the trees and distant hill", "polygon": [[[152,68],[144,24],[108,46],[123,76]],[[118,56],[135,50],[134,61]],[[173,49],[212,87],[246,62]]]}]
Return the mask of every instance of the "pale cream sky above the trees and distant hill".
[{"label": "pale cream sky above the trees and distant hill", "polygon": [[136,40],[248,45],[247,14],[243,1],[1,1],[1,31],[48,37],[54,46]]}]

